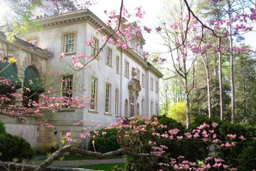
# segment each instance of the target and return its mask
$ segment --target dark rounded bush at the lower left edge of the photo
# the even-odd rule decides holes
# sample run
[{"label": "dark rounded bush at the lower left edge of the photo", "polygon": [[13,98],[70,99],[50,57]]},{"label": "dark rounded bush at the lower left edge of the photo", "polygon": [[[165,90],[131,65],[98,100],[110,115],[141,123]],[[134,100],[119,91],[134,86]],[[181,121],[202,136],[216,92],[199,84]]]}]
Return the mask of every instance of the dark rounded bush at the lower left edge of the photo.
[{"label": "dark rounded bush at the lower left edge of the photo", "polygon": [[22,137],[6,133],[0,135],[0,153],[0,160],[3,161],[12,161],[14,158],[31,159],[33,149]]}]

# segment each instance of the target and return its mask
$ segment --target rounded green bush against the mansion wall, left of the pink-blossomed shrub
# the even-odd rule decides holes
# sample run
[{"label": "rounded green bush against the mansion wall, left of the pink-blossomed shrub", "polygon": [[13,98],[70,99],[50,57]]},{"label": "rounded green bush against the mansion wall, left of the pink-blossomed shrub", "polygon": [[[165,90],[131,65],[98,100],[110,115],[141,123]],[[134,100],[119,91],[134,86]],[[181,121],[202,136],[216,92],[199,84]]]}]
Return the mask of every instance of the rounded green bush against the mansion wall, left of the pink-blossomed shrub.
[{"label": "rounded green bush against the mansion wall, left of the pink-blossomed shrub", "polygon": [[[100,129],[98,131],[100,136],[90,139],[88,150],[94,151],[92,140],[95,140],[95,150],[99,153],[107,153],[120,148],[119,144],[117,143],[117,130]],[[105,136],[102,135],[102,131],[107,132]]]}]

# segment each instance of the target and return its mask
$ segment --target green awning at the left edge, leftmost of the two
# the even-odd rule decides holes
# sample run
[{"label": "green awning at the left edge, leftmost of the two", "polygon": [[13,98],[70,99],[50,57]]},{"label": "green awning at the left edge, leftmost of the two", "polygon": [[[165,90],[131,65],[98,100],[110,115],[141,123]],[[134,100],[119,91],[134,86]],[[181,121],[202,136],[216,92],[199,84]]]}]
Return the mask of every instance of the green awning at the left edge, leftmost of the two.
[{"label": "green awning at the left edge, leftmost of the two", "polygon": [[5,77],[11,81],[11,85],[16,89],[21,88],[21,81],[18,79],[18,75],[14,70],[13,65],[9,65],[9,62],[0,62],[0,77]]}]

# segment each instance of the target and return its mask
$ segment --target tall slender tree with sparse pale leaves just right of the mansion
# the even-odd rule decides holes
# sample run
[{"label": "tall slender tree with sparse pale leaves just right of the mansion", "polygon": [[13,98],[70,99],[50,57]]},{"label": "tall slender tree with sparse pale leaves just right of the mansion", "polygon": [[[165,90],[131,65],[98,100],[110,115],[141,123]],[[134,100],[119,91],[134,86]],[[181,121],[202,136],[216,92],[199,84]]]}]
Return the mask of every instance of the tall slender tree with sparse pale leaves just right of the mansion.
[{"label": "tall slender tree with sparse pale leaves just right of the mansion", "polygon": [[[196,26],[193,28],[195,25],[193,21],[189,23],[193,19],[186,13],[186,6],[182,0],[172,4],[166,1],[164,4],[168,15],[160,21],[162,30],[159,31],[159,35],[161,35],[164,45],[169,50],[174,68],[172,72],[180,78],[183,84],[184,94],[186,96],[186,126],[188,127],[191,123],[189,94],[193,88],[193,65],[197,56],[197,54],[191,54],[188,44],[195,40],[198,29]],[[193,4],[193,1],[191,4]]]}]

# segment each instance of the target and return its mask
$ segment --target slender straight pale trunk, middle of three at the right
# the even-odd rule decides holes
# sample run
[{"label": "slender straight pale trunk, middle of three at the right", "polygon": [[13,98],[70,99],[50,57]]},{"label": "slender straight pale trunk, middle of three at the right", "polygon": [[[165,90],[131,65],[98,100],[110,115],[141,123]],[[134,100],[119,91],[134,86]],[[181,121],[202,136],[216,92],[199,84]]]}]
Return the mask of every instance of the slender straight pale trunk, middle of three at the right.
[{"label": "slender straight pale trunk, middle of three at the right", "polygon": [[[218,48],[220,49],[220,38],[218,38]],[[222,84],[222,61],[220,50],[218,51],[219,58],[219,82],[220,82],[220,120],[223,121],[223,84]]]}]

